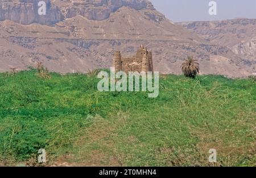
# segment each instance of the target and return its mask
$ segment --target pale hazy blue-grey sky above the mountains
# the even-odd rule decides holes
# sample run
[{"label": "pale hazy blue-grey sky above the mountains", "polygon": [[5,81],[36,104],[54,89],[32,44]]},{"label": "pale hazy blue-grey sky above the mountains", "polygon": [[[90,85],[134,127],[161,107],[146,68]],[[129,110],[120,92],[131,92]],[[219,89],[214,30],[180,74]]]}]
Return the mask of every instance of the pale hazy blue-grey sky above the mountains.
[{"label": "pale hazy blue-grey sky above the mountains", "polygon": [[215,0],[217,15],[209,15],[212,0],[150,0],[155,9],[174,22],[256,19],[256,0]]}]

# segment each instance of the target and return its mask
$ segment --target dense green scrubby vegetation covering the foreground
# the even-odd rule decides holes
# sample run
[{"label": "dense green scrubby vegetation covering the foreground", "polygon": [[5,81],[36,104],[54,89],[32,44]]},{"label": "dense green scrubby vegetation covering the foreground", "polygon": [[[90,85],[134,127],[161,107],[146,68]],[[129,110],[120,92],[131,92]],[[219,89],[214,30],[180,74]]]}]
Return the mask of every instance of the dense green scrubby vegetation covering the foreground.
[{"label": "dense green scrubby vegetation covering the foreground", "polygon": [[46,149],[43,166],[256,166],[253,80],[162,75],[155,99],[99,80],[1,73],[0,165],[40,166]]}]

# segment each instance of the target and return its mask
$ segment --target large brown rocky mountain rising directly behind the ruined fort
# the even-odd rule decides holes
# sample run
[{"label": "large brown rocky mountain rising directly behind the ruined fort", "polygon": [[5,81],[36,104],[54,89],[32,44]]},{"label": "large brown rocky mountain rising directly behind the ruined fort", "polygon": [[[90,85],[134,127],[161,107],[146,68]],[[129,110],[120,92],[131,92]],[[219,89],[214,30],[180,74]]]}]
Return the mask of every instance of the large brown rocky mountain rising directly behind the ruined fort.
[{"label": "large brown rocky mountain rising directly behind the ruined fort", "polygon": [[[152,50],[155,71],[180,74],[195,56],[201,74],[244,77],[253,69],[227,45],[172,23],[147,0],[0,1],[0,72],[42,61],[61,73],[110,67],[115,50],[133,56],[141,44]],[[184,25],[184,24],[183,24]]]}]

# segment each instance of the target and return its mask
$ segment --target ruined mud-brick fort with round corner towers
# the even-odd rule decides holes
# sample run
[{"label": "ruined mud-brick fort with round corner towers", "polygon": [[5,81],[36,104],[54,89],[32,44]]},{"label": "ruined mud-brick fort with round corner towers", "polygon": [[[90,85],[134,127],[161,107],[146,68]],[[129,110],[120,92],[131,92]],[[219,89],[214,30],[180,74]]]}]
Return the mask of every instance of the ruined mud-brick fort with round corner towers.
[{"label": "ruined mud-brick fort with round corner towers", "polygon": [[133,57],[122,57],[121,53],[117,51],[114,54],[113,67],[115,67],[115,71],[124,71],[125,73],[129,71],[138,71],[139,73],[154,71],[152,52],[144,48],[143,45]]}]

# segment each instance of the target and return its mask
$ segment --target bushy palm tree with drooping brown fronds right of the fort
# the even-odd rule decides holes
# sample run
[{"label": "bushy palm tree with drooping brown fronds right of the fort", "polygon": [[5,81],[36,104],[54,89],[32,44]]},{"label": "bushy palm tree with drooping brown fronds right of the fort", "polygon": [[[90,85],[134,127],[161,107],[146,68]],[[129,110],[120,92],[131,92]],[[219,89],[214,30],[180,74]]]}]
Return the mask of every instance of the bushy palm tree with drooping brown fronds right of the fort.
[{"label": "bushy palm tree with drooping brown fronds right of the fort", "polygon": [[188,56],[188,59],[181,65],[181,70],[185,77],[195,78],[199,74],[199,63],[196,62],[192,56]]}]

